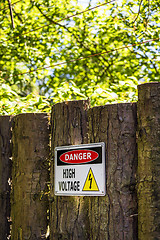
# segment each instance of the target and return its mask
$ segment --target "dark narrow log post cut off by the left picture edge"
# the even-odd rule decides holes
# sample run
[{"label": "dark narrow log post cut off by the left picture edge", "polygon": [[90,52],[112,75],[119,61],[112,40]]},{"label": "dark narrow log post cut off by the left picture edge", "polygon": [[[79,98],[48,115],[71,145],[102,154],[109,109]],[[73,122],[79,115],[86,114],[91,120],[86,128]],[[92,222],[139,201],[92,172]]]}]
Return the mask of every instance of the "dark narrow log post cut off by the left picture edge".
[{"label": "dark narrow log post cut off by the left picture edge", "polygon": [[[10,232],[11,117],[0,116],[0,239]],[[10,179],[11,180],[11,179]]]}]

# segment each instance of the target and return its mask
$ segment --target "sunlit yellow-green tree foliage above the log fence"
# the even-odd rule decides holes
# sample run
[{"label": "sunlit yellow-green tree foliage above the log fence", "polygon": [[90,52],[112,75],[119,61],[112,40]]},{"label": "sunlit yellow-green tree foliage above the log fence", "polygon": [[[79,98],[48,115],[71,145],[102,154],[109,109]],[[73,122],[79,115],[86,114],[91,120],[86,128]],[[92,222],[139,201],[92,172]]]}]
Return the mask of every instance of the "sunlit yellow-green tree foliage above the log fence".
[{"label": "sunlit yellow-green tree foliage above the log fence", "polygon": [[[48,112],[75,99],[90,98],[92,106],[136,101],[139,83],[159,81],[159,1],[119,0],[71,18],[84,10],[75,0],[20,1],[15,29],[4,7],[1,114]],[[156,40],[139,44],[149,39]]]}]

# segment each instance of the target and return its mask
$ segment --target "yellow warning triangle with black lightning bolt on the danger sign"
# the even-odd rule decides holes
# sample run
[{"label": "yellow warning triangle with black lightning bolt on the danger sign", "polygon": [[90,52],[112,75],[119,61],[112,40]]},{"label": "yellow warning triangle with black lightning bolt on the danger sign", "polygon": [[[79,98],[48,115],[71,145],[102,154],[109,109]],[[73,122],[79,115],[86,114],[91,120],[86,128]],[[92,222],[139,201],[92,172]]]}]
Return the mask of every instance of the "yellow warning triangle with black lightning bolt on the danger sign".
[{"label": "yellow warning triangle with black lightning bolt on the danger sign", "polygon": [[82,191],[99,191],[98,185],[96,183],[96,179],[94,177],[94,174],[91,168],[89,169]]}]

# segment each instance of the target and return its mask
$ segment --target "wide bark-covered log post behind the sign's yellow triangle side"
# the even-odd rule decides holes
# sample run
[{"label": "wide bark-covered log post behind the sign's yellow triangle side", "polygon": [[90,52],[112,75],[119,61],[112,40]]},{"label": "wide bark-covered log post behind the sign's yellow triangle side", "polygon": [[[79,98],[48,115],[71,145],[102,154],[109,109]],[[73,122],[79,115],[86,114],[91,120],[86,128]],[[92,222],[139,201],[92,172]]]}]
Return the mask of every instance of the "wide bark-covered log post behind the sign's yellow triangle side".
[{"label": "wide bark-covered log post behind the sign's yellow triangle side", "polygon": [[105,197],[89,198],[92,240],[137,240],[136,104],[94,107],[88,112],[90,142],[106,144]]}]

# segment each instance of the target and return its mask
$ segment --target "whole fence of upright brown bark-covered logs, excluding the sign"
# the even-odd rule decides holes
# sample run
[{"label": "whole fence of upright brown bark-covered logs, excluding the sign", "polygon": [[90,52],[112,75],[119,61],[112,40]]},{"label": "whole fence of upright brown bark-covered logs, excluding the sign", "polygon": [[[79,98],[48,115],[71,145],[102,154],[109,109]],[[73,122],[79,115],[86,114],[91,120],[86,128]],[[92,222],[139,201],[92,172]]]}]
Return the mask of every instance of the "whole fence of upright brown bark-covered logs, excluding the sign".
[{"label": "whole fence of upright brown bark-covered logs, excluding the sign", "polygon": [[[160,239],[160,83],[137,103],[0,116],[0,240]],[[105,142],[106,196],[55,196],[54,149]]]}]

